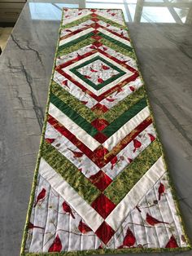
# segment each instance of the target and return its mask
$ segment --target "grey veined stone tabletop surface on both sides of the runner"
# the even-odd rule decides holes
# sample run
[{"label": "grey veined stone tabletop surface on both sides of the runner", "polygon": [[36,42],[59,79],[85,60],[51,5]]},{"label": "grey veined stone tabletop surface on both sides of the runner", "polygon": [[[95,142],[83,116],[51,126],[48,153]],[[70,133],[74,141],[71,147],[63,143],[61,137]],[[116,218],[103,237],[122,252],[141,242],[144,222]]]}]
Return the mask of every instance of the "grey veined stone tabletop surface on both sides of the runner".
[{"label": "grey veined stone tabletop surface on both sides of the runner", "polygon": [[[32,9],[25,5],[0,57],[1,256],[19,255],[58,37],[59,19],[33,18]],[[192,24],[151,20],[129,29],[192,241]]]}]

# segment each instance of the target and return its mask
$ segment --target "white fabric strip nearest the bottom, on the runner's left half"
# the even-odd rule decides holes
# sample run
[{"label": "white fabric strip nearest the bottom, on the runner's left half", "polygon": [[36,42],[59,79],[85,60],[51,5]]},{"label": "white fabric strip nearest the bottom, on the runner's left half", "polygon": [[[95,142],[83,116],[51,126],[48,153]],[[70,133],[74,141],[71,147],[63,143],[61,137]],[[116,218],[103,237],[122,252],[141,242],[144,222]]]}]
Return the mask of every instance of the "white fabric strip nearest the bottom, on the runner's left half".
[{"label": "white fabric strip nearest the bottom, on the runner's left half", "polygon": [[39,174],[72,206],[94,232],[98,229],[103,223],[103,218],[43,158],[40,161]]}]

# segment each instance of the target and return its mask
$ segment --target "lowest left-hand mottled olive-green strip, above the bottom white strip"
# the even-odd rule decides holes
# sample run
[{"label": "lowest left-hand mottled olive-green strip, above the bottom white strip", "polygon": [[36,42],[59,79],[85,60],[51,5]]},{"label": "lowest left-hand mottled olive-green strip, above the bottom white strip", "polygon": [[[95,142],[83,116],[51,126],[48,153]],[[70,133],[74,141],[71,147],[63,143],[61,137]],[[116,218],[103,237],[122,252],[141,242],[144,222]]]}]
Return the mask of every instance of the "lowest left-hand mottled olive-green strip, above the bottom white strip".
[{"label": "lowest left-hand mottled olive-green strip, above the bottom white strip", "polygon": [[44,141],[41,157],[66,180],[78,194],[91,204],[100,194],[98,188],[50,143]]}]

